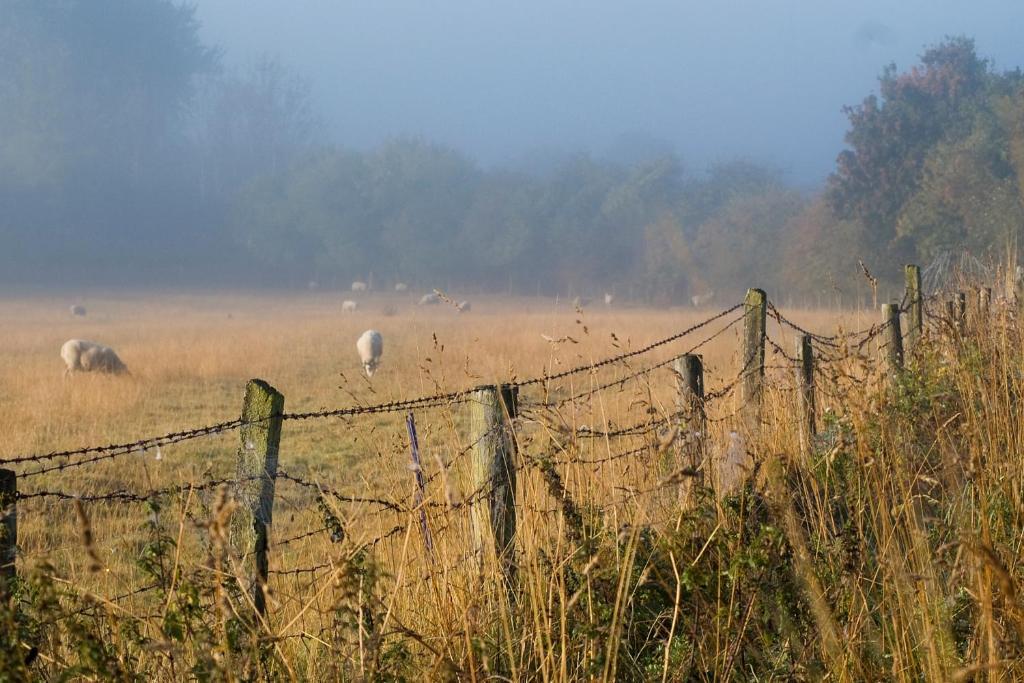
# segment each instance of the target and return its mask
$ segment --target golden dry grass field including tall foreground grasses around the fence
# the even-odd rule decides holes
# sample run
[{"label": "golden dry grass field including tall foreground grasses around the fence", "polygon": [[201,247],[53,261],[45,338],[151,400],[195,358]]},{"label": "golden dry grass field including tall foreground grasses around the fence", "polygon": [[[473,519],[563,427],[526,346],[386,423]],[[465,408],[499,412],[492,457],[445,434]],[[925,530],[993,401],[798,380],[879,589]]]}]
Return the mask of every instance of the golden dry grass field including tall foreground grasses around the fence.
[{"label": "golden dry grass field including tall foreground grasses around the fence", "polygon": [[[370,405],[557,373],[717,312],[483,298],[458,314],[372,295],[342,314],[343,298],[96,294],[85,318],[58,297],[0,300],[0,457],[232,419],[253,377],[285,394],[287,412]],[[783,313],[823,334],[878,318]],[[1021,353],[1010,312],[963,338],[933,321],[894,382],[878,340],[819,344],[819,436],[807,450],[792,364],[771,347],[760,425],[737,416],[740,314],[522,390],[509,582],[493,552],[472,552],[480,497],[464,402],[414,411],[429,478],[422,507],[404,412],[285,423],[281,468],[312,485],[276,483],[265,620],[252,614],[245,558],[226,541],[230,497],[202,487],[234,474],[237,432],[37,475],[82,457],[19,464],[29,495],[185,488],[145,503],[20,501],[4,664],[125,680],[1024,675]],[[368,328],[385,339],[372,380],[354,349]],[[793,335],[769,326],[787,352]],[[132,374],[65,379],[68,338],[113,346]],[[698,479],[680,469],[672,372],[641,371],[700,342],[707,390],[723,395],[707,407]]]}]

